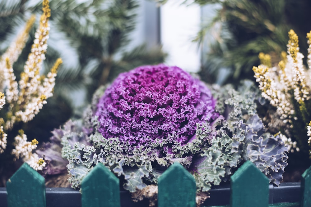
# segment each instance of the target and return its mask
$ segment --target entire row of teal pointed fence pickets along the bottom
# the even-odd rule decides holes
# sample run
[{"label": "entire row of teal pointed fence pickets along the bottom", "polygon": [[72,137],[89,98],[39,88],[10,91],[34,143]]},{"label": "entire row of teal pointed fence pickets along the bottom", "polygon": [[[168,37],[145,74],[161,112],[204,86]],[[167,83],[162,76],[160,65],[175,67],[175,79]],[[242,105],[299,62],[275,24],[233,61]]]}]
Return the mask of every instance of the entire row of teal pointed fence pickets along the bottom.
[{"label": "entire row of teal pointed fence pickets along the bottom", "polygon": [[[245,162],[231,176],[230,205],[249,206],[311,206],[311,167],[302,175],[301,202],[268,204],[269,180],[250,162]],[[44,178],[28,164],[7,181],[8,207],[45,207]],[[119,207],[119,179],[104,165],[97,164],[81,185],[83,207]],[[196,207],[196,184],[193,176],[179,163],[171,165],[159,178],[158,207]],[[1,200],[0,200],[0,206]]]}]

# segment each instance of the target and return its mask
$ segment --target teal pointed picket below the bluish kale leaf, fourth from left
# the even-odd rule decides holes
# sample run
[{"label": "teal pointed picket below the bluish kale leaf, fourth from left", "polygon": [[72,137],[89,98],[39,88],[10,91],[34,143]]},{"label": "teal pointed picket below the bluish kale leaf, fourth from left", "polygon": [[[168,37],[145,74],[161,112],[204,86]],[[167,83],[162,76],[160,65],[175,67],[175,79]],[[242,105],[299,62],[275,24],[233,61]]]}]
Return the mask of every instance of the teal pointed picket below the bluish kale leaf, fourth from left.
[{"label": "teal pointed picket below the bluish kale leaf, fourth from left", "polygon": [[230,179],[231,207],[268,206],[269,179],[251,161],[246,161]]}]

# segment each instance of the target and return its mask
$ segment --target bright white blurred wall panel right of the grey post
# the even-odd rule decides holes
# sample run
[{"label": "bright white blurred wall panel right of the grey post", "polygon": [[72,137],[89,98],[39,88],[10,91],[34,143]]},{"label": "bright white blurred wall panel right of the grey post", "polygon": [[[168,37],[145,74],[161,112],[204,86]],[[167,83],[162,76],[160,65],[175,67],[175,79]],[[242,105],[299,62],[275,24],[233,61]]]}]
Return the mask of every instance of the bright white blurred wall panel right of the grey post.
[{"label": "bright white blurred wall panel right of the grey post", "polygon": [[197,4],[182,4],[184,0],[169,0],[160,8],[161,43],[169,53],[168,65],[189,72],[200,69],[200,51],[192,39],[200,28],[201,9]]}]

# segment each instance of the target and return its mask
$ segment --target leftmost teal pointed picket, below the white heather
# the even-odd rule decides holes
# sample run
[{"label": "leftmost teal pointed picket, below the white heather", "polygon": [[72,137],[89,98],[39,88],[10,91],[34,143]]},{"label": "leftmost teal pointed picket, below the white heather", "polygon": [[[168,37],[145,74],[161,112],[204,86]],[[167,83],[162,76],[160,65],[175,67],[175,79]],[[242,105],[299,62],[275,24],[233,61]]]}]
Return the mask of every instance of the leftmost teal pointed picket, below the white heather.
[{"label": "leftmost teal pointed picket, below the white heather", "polygon": [[24,163],[7,181],[8,207],[45,207],[45,179]]}]

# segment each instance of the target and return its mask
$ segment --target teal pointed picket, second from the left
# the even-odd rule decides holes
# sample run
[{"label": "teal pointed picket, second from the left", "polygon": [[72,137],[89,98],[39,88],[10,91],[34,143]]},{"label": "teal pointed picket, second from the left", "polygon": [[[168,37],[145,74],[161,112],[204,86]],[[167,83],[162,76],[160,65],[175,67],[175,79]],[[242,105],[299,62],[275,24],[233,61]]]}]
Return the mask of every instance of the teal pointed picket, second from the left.
[{"label": "teal pointed picket, second from the left", "polygon": [[97,164],[82,180],[82,207],[120,206],[119,179],[103,164]]}]

